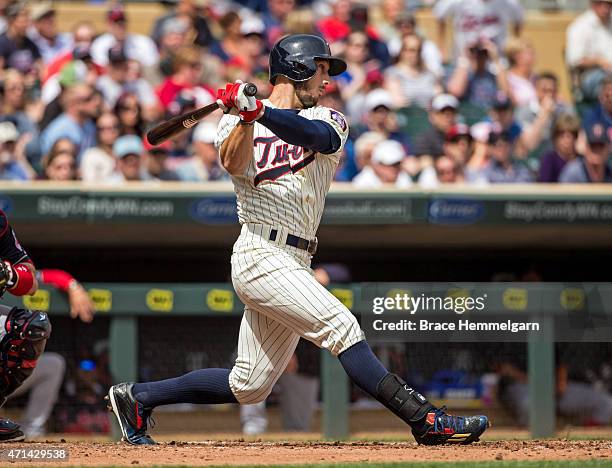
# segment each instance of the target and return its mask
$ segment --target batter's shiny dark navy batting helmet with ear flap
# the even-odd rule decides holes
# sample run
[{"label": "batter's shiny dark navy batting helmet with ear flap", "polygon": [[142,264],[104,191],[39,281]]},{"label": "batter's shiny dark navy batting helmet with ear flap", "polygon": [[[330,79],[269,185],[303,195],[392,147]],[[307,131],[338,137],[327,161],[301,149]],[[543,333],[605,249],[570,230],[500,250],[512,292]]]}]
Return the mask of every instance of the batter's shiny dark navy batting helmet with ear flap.
[{"label": "batter's shiny dark navy batting helmet with ear flap", "polygon": [[270,52],[270,83],[279,75],[292,81],[306,81],[317,71],[315,59],[329,62],[329,76],[346,70],[346,62],[332,57],[329,44],[319,36],[292,34],[282,38]]}]

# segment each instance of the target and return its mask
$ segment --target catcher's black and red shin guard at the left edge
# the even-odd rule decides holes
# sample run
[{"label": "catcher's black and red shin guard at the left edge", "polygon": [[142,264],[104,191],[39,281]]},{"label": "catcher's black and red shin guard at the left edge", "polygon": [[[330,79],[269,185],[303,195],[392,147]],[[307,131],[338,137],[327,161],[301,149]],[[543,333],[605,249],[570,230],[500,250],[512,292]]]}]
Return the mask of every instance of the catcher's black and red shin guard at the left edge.
[{"label": "catcher's black and red shin guard at the left edge", "polygon": [[[5,312],[2,307],[0,312]],[[13,307],[0,319],[0,402],[13,393],[34,371],[51,334],[44,312]],[[0,321],[0,323],[2,323]]]}]

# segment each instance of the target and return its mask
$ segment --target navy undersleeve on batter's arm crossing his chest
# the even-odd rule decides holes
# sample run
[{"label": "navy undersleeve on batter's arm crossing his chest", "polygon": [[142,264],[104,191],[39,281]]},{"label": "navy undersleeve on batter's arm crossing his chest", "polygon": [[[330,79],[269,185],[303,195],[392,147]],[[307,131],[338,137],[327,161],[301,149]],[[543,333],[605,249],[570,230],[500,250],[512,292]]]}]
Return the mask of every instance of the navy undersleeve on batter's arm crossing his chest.
[{"label": "navy undersleeve on batter's arm crossing his chest", "polygon": [[319,153],[335,153],[341,145],[331,125],[322,120],[306,119],[290,110],[266,107],[258,122],[281,140]]}]

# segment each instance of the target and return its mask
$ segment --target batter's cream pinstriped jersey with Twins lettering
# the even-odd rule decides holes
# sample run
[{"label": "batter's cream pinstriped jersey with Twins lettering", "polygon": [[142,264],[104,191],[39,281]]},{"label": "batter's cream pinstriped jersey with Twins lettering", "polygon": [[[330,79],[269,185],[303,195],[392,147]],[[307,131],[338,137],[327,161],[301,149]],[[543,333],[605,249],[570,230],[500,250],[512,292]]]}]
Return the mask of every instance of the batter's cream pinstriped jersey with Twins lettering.
[{"label": "batter's cream pinstriped jersey with Twins lettering", "polygon": [[[264,104],[273,107],[267,100]],[[255,122],[253,158],[244,174],[232,176],[232,182],[240,224],[280,226],[296,236],[312,239],[348,136],[348,125],[340,112],[328,107],[303,109],[299,115],[329,123],[340,136],[340,149],[334,154],[322,154],[290,145]],[[238,117],[229,114],[221,118],[217,148],[238,122]]]}]

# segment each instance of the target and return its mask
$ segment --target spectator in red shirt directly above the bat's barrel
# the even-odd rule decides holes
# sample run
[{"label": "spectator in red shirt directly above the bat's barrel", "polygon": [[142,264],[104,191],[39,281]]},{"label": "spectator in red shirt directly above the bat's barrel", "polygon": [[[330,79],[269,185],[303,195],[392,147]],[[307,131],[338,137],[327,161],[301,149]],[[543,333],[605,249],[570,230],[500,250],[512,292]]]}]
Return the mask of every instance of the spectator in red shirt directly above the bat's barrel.
[{"label": "spectator in red shirt directly above the bat's barrel", "polygon": [[166,111],[182,91],[191,92],[198,106],[205,106],[214,101],[212,92],[201,85],[202,57],[196,47],[181,47],[177,50],[172,70],[172,75],[155,91]]}]

